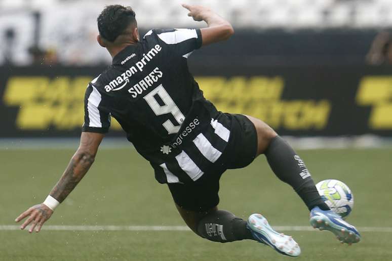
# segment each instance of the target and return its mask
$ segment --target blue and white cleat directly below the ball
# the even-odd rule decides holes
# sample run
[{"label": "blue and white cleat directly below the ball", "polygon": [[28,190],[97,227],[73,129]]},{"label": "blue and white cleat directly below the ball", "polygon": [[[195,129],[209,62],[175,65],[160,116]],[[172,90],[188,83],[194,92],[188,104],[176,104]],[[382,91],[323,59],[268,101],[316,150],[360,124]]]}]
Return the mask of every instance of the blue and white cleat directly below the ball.
[{"label": "blue and white cleat directly below the ball", "polygon": [[343,221],[342,218],[332,210],[321,210],[314,207],[310,211],[310,225],[320,230],[328,230],[335,234],[340,243],[358,243],[361,235],[358,230]]}]

